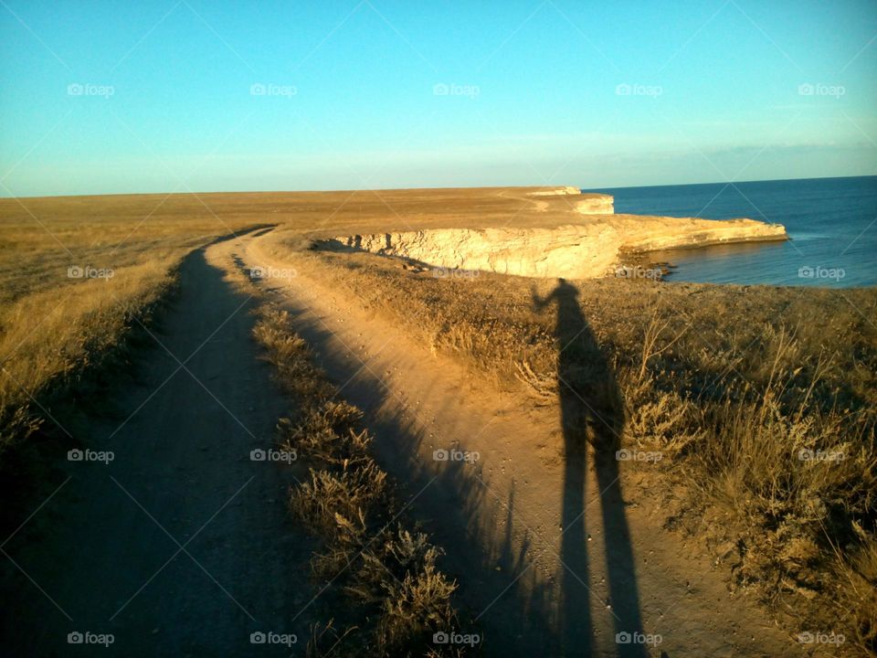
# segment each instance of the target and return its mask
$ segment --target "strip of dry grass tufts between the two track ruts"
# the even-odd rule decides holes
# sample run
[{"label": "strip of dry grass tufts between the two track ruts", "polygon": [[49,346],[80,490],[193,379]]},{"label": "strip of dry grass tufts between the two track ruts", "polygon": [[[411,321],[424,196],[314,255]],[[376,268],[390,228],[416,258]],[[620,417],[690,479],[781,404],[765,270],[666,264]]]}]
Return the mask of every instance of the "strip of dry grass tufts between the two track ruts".
[{"label": "strip of dry grass tufts between the two track ruts", "polygon": [[288,313],[267,305],[254,329],[300,408],[278,425],[280,443],[311,465],[309,479],[291,489],[290,507],[322,541],[311,562],[315,577],[326,587],[337,582],[351,611],[343,632],[333,620],[313,629],[308,654],[462,655],[432,643],[434,633],[458,626],[457,583],[439,569],[441,550],[398,520],[393,485],[359,427],[362,412],[333,399],[334,387],[290,324]]}]

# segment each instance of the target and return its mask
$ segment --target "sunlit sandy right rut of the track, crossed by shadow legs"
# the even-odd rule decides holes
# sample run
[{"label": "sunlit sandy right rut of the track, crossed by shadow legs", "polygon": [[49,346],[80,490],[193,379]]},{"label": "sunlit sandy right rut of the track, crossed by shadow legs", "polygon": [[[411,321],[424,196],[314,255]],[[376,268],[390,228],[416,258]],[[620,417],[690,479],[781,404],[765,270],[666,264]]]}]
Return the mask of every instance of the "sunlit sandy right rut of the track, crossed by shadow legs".
[{"label": "sunlit sandy right rut of the track, crossed by shadow legs", "polygon": [[[228,262],[295,267],[271,255],[271,238],[228,243]],[[729,595],[701,547],[660,528],[618,462],[565,455],[558,409],[502,395],[306,269],[261,285],[291,310],[342,396],[365,409],[380,461],[448,550],[486,653],[798,654],[754,602]],[[452,447],[480,459],[433,459]],[[626,631],[661,642],[618,644]]]}]

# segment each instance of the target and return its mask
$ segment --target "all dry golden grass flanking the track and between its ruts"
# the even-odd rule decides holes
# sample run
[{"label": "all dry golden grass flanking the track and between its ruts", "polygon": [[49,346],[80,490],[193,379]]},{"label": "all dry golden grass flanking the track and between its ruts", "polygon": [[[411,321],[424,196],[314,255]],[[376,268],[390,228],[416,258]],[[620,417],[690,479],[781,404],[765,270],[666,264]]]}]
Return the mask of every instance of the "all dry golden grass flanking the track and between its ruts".
[{"label": "all dry golden grass flanking the track and between its ruts", "polygon": [[[172,296],[187,253],[275,226],[260,239],[274,259],[455,359],[473,381],[525,391],[534,408],[562,406],[566,387],[589,409],[593,444],[660,452],[642,485],[663,502],[666,527],[702,542],[731,589],[755,592],[789,632],[831,628],[847,637],[843,651],[875,651],[877,291],[461,276],[312,249],[338,235],[582,220],[564,196],[525,196],[535,189],[0,200],[0,453],[49,426],[53,400],[95,403],[90,371]],[[555,302],[560,320],[547,310]],[[355,433],[358,413],[329,418],[328,385],[313,383],[308,352],[284,324],[263,314],[257,337],[294,395],[310,400],[294,419],[304,439],[290,426],[287,440],[311,440],[305,451],[323,454],[322,470],[291,504],[329,537],[312,567],[333,574],[352,546],[374,538],[357,510],[391,516],[375,512],[384,475]],[[434,571],[437,549],[405,532],[376,533],[384,553],[365,559],[348,587],[352,600],[382,610],[369,642],[384,653],[454,615],[455,585]],[[407,588],[399,595],[426,601],[429,623],[394,608],[386,589],[395,584],[369,571],[394,556],[417,565],[396,574]]]}]

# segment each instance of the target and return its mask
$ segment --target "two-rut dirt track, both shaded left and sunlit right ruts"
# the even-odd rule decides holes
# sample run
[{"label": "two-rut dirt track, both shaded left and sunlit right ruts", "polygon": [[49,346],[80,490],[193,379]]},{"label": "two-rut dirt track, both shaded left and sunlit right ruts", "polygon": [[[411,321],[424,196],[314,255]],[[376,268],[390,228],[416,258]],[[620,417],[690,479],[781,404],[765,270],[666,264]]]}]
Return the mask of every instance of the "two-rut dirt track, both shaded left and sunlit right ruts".
[{"label": "two-rut dirt track, both shaded left and sunlit right ruts", "polygon": [[[249,337],[252,302],[221,272],[236,258],[294,267],[269,257],[270,237],[186,260],[156,335],[176,358],[155,345],[140,384],[115,400],[122,418],[83,437],[114,461],[60,460],[69,481],[4,545],[20,567],[4,558],[0,572],[18,610],[4,618],[6,653],[95,651],[69,645],[70,631],[113,633],[107,654],[120,655],[248,655],[251,632],[275,631],[298,634],[301,653],[316,605],[312,547],[285,511],[293,473],[249,460],[285,403]],[[565,453],[558,409],[500,394],[305,271],[261,285],[365,409],[379,461],[477,618],[457,631],[482,632],[485,654],[797,654],[753,602],[729,596],[700,547],[660,528],[623,469]],[[433,460],[451,448],[480,459]],[[618,632],[661,642],[618,644]]]}]

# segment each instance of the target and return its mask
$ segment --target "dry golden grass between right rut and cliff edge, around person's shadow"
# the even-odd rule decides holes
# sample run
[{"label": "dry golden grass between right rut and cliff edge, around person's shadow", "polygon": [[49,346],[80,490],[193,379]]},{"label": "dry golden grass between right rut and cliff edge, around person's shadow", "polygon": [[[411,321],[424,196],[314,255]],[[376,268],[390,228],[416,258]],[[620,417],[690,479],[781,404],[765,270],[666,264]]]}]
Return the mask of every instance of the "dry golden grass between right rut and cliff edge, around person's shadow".
[{"label": "dry golden grass between right rut and cliff edge, around person's shadow", "polygon": [[[293,252],[300,246],[291,237],[274,250],[498,386],[556,404],[555,313],[534,308],[555,281],[437,277],[371,254]],[[667,499],[667,524],[701,536],[732,587],[755,590],[789,628],[833,629],[843,651],[873,652],[877,291],[575,285],[618,382],[622,445],[665,456],[658,474],[641,468]],[[580,354],[571,384],[607,409],[611,394],[591,377],[604,371]]]}]

